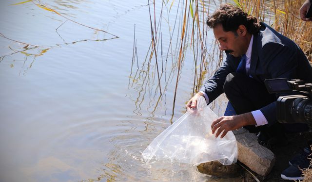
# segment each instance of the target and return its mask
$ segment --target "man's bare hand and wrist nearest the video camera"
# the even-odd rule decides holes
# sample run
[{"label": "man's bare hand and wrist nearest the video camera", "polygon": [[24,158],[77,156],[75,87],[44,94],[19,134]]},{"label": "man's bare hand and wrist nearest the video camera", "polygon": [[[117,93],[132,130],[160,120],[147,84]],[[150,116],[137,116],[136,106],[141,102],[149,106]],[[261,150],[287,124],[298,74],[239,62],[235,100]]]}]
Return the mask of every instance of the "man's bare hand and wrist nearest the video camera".
[{"label": "man's bare hand and wrist nearest the video camera", "polygon": [[[222,116],[214,120],[211,125],[211,130],[213,134],[215,134],[215,137],[218,137],[220,133],[224,131],[221,135],[221,138],[223,138],[229,131],[239,129],[242,126],[255,124],[256,122],[252,113],[245,113],[237,116]],[[217,132],[215,133],[216,130]]]}]

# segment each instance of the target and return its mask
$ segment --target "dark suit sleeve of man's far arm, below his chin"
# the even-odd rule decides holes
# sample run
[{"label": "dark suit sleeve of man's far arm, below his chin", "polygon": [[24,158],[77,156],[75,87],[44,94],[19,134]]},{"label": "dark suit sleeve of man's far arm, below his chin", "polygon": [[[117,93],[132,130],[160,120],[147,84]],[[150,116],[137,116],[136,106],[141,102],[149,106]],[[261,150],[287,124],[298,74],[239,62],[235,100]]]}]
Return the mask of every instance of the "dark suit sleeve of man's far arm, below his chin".
[{"label": "dark suit sleeve of man's far arm, below his chin", "polygon": [[205,92],[209,98],[209,103],[215,100],[223,93],[223,85],[227,75],[234,72],[234,69],[229,64],[229,59],[225,60],[222,66],[215,72],[215,75],[208,79],[208,81],[201,87],[199,91]]}]

